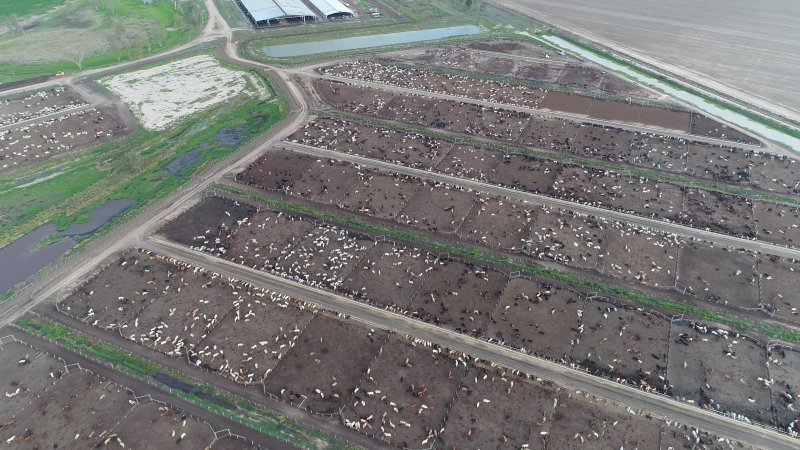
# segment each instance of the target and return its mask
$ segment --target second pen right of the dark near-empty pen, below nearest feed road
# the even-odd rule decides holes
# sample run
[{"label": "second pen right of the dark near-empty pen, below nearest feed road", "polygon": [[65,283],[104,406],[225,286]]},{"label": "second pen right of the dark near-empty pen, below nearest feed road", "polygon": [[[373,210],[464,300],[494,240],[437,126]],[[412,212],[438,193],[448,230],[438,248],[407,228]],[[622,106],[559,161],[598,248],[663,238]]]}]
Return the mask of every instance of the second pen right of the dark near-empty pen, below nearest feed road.
[{"label": "second pen right of the dark near-empty pen, below nearest feed road", "polygon": [[[556,389],[500,368],[471,367],[447,414],[437,448],[542,449]],[[527,447],[526,447],[527,445]]]}]

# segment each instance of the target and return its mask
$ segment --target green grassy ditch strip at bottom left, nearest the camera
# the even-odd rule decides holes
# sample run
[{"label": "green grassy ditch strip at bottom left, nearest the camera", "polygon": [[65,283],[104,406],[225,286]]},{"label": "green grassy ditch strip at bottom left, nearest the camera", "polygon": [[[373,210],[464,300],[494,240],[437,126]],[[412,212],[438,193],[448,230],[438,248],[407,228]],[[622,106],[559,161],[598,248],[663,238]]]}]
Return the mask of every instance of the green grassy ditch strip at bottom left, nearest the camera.
[{"label": "green grassy ditch strip at bottom left, nearest the camera", "polygon": [[[359,448],[336,436],[278,415],[259,404],[210,386],[182,372],[169,369],[153,361],[121,350],[119,347],[108,342],[74,331],[52,320],[34,315],[25,315],[17,319],[15,325],[30,334],[54,341],[67,350],[80,351],[88,354],[94,359],[99,359],[115,370],[128,375],[152,378],[156,374],[165,374],[178,379],[196,389],[202,396],[170,389],[168,386],[158,383],[155,380],[151,380],[151,382],[162,391],[179,396],[215,414],[224,415],[253,430],[270,437],[284,440],[299,448],[309,450],[354,450]],[[216,400],[216,402],[214,400]],[[221,406],[220,403],[224,405],[233,405],[233,408],[228,409],[225,406]]]}]

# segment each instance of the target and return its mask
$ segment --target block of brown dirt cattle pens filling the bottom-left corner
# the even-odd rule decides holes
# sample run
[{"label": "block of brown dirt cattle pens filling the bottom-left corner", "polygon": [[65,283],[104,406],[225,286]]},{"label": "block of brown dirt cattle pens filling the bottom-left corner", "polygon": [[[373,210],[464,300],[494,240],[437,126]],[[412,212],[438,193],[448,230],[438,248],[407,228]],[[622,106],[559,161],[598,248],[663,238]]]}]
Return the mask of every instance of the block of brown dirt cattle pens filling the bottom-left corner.
[{"label": "block of brown dirt cattle pens filling the bottom-left corner", "polygon": [[9,339],[0,358],[3,379],[16,389],[0,397],[0,410],[11,414],[0,427],[4,448],[249,448],[217,439],[201,419]]}]

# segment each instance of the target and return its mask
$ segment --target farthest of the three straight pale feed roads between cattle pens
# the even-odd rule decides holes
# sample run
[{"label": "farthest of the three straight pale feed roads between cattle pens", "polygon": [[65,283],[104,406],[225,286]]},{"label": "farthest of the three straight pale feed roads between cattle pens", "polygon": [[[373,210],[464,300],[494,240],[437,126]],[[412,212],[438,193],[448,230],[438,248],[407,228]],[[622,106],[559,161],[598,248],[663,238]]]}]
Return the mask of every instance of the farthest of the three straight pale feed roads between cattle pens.
[{"label": "farthest of the three straight pale feed roads between cattle pens", "polygon": [[450,101],[456,101],[456,102],[462,102],[462,103],[471,103],[471,104],[474,104],[474,105],[484,106],[484,107],[487,107],[487,108],[505,109],[505,110],[508,110],[508,111],[516,111],[516,112],[531,114],[531,115],[534,115],[534,116],[543,115],[543,116],[549,116],[549,117],[556,117],[556,118],[559,118],[559,119],[586,122],[586,123],[591,123],[591,124],[601,125],[601,126],[606,126],[606,127],[620,128],[620,129],[627,130],[627,131],[638,131],[640,133],[660,134],[662,136],[668,136],[668,137],[672,137],[672,138],[676,138],[676,139],[685,139],[687,141],[703,142],[703,143],[711,144],[711,145],[725,145],[725,146],[728,146],[728,147],[735,147],[735,148],[741,148],[741,149],[745,149],[745,150],[756,150],[756,151],[765,151],[765,150],[767,150],[767,149],[765,149],[764,147],[762,147],[760,145],[744,144],[744,143],[739,143],[739,142],[726,141],[724,139],[715,139],[715,138],[709,138],[709,137],[705,137],[705,136],[698,136],[698,135],[694,135],[694,134],[680,133],[680,132],[677,132],[675,130],[670,130],[670,129],[666,129],[666,128],[631,125],[631,124],[627,124],[627,123],[623,123],[623,122],[613,122],[613,121],[610,121],[610,120],[594,119],[594,118],[591,118],[591,117],[588,117],[588,116],[581,116],[581,115],[577,115],[577,114],[570,114],[570,113],[565,113],[565,112],[560,112],[560,111],[552,111],[552,110],[546,110],[546,109],[535,109],[535,108],[529,108],[529,107],[526,107],[526,106],[510,105],[508,103],[490,102],[488,100],[478,100],[478,99],[469,98],[469,97],[461,97],[461,96],[458,96],[458,95],[442,94],[442,93],[437,93],[437,92],[428,92],[428,91],[423,91],[423,90],[420,90],[420,89],[405,88],[405,87],[400,87],[400,86],[393,86],[393,85],[390,85],[390,84],[375,83],[375,82],[372,82],[372,81],[355,80],[355,79],[352,79],[352,78],[337,77],[337,76],[332,76],[332,75],[320,75],[320,74],[315,73],[313,71],[309,72],[309,71],[306,71],[306,70],[297,70],[296,72],[297,73],[301,73],[301,74],[306,75],[306,76],[309,76],[309,77],[322,78],[324,80],[331,80],[331,81],[341,81],[341,82],[345,82],[345,83],[355,83],[355,84],[368,86],[368,87],[372,87],[372,88],[376,88],[376,89],[381,89],[381,90],[384,90],[384,91],[395,92],[395,93],[412,94],[412,95],[419,95],[419,96],[429,97],[429,98],[437,98],[437,99],[441,99],[441,100],[450,100]]}]

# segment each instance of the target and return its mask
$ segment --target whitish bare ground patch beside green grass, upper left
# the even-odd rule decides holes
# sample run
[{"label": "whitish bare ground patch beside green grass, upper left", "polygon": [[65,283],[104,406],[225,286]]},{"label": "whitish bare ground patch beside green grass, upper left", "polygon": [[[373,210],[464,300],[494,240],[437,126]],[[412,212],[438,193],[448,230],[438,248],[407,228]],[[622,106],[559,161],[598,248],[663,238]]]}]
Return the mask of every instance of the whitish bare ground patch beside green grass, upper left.
[{"label": "whitish bare ground patch beside green grass, upper left", "polygon": [[145,128],[159,130],[240,93],[263,95],[261,89],[249,88],[247,79],[245,72],[226,69],[213,57],[200,55],[114,75],[101,83],[128,104]]}]

